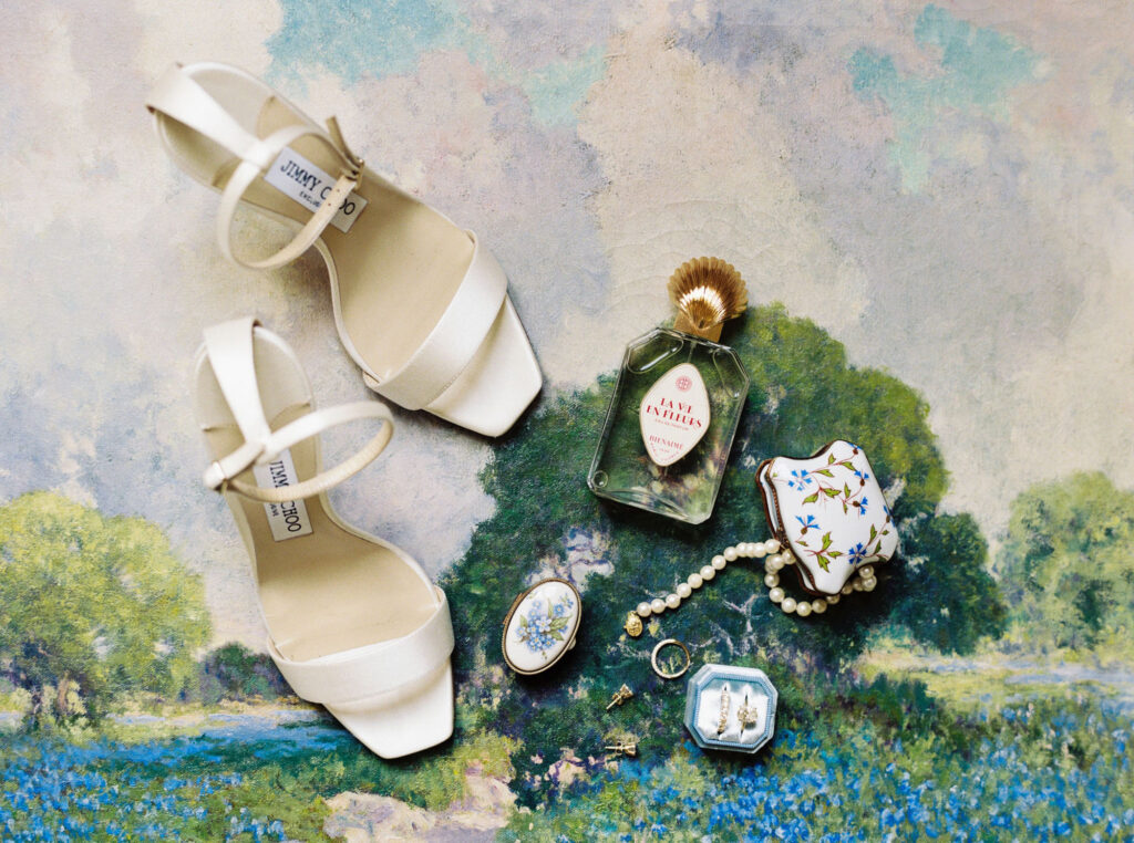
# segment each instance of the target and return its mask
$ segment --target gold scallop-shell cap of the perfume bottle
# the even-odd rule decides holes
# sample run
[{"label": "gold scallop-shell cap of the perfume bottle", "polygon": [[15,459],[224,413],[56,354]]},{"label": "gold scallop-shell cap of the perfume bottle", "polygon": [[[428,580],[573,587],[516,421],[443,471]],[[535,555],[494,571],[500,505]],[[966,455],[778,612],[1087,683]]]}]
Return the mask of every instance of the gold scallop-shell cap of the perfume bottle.
[{"label": "gold scallop-shell cap of the perfume bottle", "polygon": [[719,257],[686,261],[669,278],[669,298],[679,310],[674,327],[716,342],[727,320],[748,306],[748,290],[736,267]]}]

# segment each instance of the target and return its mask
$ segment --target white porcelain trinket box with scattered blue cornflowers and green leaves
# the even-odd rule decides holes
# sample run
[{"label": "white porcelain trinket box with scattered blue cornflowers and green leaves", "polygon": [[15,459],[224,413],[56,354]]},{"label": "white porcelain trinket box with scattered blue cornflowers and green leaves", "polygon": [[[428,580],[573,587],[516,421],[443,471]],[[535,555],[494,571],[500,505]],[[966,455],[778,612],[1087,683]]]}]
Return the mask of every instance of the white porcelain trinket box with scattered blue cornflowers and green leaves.
[{"label": "white porcelain trinket box with scattered blue cornflowers and green leaves", "polygon": [[764,460],[756,482],[768,527],[792,548],[804,590],[838,594],[857,569],[897,553],[890,508],[857,445],[835,440],[806,459]]}]

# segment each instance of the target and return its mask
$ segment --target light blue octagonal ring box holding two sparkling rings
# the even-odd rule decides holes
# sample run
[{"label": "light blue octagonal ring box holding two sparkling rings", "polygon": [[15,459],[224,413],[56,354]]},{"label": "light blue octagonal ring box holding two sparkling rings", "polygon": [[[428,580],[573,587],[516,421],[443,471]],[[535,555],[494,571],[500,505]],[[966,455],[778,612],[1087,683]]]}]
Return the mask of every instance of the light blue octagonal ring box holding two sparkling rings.
[{"label": "light blue octagonal ring box holding two sparkling rings", "polygon": [[758,667],[706,664],[689,679],[685,727],[702,749],[752,753],[776,733],[778,698],[776,686]]}]

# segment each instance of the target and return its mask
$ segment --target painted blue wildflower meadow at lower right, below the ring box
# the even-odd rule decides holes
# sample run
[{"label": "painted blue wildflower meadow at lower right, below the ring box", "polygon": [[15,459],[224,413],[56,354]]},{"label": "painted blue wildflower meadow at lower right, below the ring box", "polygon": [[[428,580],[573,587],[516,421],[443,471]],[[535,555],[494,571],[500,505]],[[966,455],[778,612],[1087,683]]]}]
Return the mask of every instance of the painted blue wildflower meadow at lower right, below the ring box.
[{"label": "painted blue wildflower meadow at lower right, below the ring box", "polygon": [[[1040,699],[938,725],[906,738],[858,718],[781,729],[746,761],[686,742],[665,763],[624,760],[570,800],[517,815],[505,836],[1134,841],[1128,710]],[[964,750],[950,746],[963,731]]]}]

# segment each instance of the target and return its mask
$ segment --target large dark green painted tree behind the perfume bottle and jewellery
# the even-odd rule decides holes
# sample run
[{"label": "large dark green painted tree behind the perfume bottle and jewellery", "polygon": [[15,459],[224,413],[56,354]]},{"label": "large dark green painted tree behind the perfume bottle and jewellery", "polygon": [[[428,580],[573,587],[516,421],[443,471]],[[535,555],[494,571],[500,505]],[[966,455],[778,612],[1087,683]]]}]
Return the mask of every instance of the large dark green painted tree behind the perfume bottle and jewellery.
[{"label": "large dark green painted tree behind the perfume bottle and jewellery", "polygon": [[[532,751],[601,751],[620,722],[604,705],[621,682],[637,690],[634,723],[642,751],[670,751],[684,686],[652,673],[650,653],[660,638],[691,645],[694,669],[704,662],[754,664],[786,688],[789,674],[837,676],[880,624],[908,627],[916,639],[948,652],[968,652],[981,637],[1002,631],[974,522],[937,513],[947,472],[925,423],[925,402],[889,375],[848,366],[840,343],[780,305],[751,308],[725,341],[741,355],[752,389],[708,522],[689,527],[607,503],[586,487],[610,376],[547,401],[497,445],[483,471],[497,511],[477,526],[445,584],[462,641],[457,674],[472,710],[484,713],[493,729],[523,734]],[[624,620],[638,602],[672,590],[723,547],[768,536],[755,483],[761,460],[809,455],[833,438],[866,451],[915,564],[882,565],[873,594],[798,619],[768,599],[763,565],[738,562],[679,611],[654,619],[642,638],[626,636]],[[578,646],[549,674],[517,679],[497,667],[500,624],[525,582],[552,573],[584,588]],[[792,579],[786,573],[781,581]],[[943,593],[948,622],[921,622],[931,613],[942,618]],[[795,705],[810,702],[799,698]],[[524,764],[518,760],[522,774]]]}]

